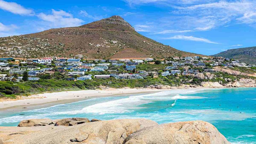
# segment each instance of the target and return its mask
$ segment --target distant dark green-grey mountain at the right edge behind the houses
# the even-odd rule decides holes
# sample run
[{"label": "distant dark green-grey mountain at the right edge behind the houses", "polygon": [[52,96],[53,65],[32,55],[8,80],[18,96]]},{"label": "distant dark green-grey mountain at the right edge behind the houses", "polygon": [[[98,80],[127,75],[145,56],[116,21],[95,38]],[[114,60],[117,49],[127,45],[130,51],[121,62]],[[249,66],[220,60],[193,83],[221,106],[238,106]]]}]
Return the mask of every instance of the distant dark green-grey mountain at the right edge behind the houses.
[{"label": "distant dark green-grey mountain at the right edge behind the houses", "polygon": [[245,47],[239,49],[230,49],[221,53],[212,55],[214,57],[225,57],[237,59],[241,62],[256,64],[256,47]]}]

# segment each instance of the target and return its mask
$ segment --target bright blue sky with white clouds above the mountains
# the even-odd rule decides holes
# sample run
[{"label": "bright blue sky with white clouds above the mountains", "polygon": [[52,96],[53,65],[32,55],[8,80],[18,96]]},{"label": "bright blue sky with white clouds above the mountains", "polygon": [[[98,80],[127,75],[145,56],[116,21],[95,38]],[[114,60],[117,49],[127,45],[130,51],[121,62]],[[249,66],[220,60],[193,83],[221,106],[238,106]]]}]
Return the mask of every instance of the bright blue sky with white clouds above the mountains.
[{"label": "bright blue sky with white clouds above the mountains", "polygon": [[0,0],[0,37],[119,15],[165,45],[211,55],[256,46],[256,0]]}]

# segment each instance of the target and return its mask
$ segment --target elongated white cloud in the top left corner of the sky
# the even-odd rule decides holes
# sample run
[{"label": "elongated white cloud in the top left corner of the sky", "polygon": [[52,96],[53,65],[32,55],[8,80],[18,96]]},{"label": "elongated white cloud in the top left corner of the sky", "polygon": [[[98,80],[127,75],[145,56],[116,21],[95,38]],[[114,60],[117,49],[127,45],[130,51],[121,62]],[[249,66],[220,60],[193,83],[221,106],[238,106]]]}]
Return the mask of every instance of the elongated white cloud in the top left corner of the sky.
[{"label": "elongated white cloud in the top left corner of the sky", "polygon": [[9,11],[14,14],[19,15],[34,15],[34,11],[31,9],[26,9],[23,6],[19,5],[15,2],[6,2],[3,0],[0,0],[0,9]]}]

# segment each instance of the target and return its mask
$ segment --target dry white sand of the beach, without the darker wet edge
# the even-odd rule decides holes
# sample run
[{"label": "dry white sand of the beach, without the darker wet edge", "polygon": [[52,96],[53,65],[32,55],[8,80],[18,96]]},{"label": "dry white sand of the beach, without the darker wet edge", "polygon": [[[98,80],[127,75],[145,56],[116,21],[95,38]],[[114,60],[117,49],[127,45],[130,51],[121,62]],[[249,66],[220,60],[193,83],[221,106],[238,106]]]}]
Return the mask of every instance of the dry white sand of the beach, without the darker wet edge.
[{"label": "dry white sand of the beach, without the darker wet edge", "polygon": [[[175,90],[175,89],[166,89]],[[0,109],[13,106],[26,106],[33,104],[42,104],[48,102],[55,102],[66,99],[81,99],[95,96],[109,96],[114,94],[129,94],[129,93],[142,93],[142,92],[157,92],[164,91],[161,89],[112,89],[109,90],[79,90],[79,91],[62,91],[56,93],[44,93],[38,95],[32,95],[31,97],[43,97],[43,98],[33,98],[33,99],[22,99],[17,101],[5,101],[0,102]],[[79,97],[77,97],[79,96]]]}]

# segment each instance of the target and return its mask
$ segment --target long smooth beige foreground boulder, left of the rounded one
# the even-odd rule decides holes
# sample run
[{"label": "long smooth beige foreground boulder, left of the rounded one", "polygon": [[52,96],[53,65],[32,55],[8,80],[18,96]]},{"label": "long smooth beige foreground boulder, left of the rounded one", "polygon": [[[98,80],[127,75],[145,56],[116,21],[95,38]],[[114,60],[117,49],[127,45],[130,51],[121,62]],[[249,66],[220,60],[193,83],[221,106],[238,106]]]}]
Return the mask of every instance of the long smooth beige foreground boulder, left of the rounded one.
[{"label": "long smooth beige foreground boulder, left of the rounded one", "polygon": [[58,129],[13,136],[13,139],[8,141],[17,144],[63,144],[79,141],[86,144],[122,144],[129,134],[157,125],[156,122],[147,119],[116,119],[69,127],[59,126]]}]

